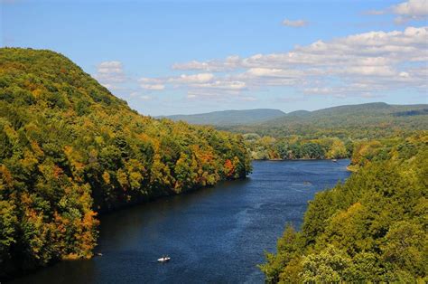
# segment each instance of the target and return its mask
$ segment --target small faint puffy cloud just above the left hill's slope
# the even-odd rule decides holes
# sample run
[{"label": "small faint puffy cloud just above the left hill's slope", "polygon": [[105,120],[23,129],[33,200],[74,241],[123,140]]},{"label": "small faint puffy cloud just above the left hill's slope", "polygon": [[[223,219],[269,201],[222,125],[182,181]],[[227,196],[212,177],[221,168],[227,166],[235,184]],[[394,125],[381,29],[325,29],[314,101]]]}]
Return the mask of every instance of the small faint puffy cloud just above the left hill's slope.
[{"label": "small faint puffy cloud just above the left hill's slope", "polygon": [[127,80],[123,64],[118,61],[99,63],[93,77],[109,90],[120,89],[118,85]]}]

